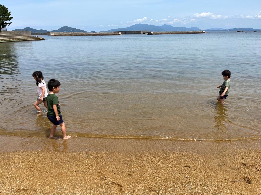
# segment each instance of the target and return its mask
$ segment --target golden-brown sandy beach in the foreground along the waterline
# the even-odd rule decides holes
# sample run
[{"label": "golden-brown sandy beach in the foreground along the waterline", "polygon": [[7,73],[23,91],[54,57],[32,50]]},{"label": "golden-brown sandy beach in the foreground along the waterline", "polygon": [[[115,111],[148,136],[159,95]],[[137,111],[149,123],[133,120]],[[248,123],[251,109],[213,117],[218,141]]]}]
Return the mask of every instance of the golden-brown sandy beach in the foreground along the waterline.
[{"label": "golden-brown sandy beach in the foreground along the waterline", "polygon": [[261,140],[0,136],[2,194],[261,194]]}]

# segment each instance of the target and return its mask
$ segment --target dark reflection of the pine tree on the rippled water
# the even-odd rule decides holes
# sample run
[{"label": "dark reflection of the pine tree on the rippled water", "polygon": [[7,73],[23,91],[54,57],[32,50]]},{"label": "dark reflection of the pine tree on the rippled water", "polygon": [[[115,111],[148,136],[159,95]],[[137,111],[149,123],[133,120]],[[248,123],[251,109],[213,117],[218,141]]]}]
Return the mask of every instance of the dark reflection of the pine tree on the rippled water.
[{"label": "dark reflection of the pine tree on the rippled water", "polygon": [[15,53],[15,44],[0,44],[0,80],[5,78],[13,78],[20,74],[18,69],[18,58]]}]

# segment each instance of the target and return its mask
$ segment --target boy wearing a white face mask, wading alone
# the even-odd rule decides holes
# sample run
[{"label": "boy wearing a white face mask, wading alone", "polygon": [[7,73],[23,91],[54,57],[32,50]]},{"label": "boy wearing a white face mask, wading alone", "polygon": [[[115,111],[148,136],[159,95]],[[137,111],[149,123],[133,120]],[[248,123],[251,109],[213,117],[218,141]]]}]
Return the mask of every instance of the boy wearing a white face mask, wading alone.
[{"label": "boy wearing a white face mask, wading alone", "polygon": [[224,100],[226,99],[226,97],[229,94],[230,75],[231,75],[231,72],[229,70],[223,70],[222,76],[223,76],[224,82],[222,83],[222,85],[217,86],[218,89],[221,87],[220,91],[219,91],[219,96],[217,97],[217,100],[220,101],[221,104],[226,103],[226,102],[224,102]]}]

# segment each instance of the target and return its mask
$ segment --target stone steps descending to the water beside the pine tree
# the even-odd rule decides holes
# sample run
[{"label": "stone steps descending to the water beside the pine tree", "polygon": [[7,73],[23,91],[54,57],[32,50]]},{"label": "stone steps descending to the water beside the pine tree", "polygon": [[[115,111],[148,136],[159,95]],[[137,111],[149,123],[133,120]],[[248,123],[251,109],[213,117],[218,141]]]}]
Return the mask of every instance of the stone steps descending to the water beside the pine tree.
[{"label": "stone steps descending to the water beside the pine tree", "polygon": [[31,36],[29,35],[30,31],[26,31],[27,33],[22,33],[23,31],[0,31],[0,43],[3,42],[13,42],[13,41],[37,41],[44,40],[42,37]]}]

